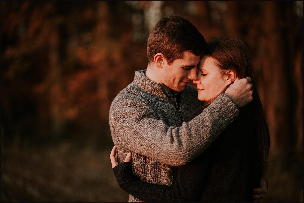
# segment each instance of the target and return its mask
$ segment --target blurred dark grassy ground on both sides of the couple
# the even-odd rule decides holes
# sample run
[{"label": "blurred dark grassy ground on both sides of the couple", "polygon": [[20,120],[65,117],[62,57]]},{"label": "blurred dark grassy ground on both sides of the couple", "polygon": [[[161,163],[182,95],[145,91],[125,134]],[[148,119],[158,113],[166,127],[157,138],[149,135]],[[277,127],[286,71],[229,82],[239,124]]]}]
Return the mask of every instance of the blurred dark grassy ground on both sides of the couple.
[{"label": "blurred dark grassy ground on both sides of the couple", "polygon": [[[94,150],[1,147],[1,202],[126,202],[112,172],[112,146]],[[291,161],[292,162],[292,161]],[[270,159],[269,191],[263,202],[303,202],[303,165]]]}]

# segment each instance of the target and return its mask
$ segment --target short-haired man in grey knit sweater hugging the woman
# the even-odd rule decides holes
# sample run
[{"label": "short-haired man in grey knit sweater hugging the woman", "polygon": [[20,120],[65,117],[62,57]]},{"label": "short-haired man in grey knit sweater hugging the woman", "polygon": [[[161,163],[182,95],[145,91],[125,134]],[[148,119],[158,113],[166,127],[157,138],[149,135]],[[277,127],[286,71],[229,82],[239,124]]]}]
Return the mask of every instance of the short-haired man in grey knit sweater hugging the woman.
[{"label": "short-haired man in grey knit sweater hugging the woman", "polygon": [[[232,84],[200,115],[186,122],[202,106],[196,88],[200,56],[206,41],[183,17],[163,18],[147,42],[147,70],[112,101],[109,124],[119,158],[132,152],[133,170],[144,181],[171,184],[174,166],[202,153],[238,115],[238,107],[252,100],[250,78]],[[246,135],[244,135],[246,136]],[[130,195],[129,202],[140,202]]]}]

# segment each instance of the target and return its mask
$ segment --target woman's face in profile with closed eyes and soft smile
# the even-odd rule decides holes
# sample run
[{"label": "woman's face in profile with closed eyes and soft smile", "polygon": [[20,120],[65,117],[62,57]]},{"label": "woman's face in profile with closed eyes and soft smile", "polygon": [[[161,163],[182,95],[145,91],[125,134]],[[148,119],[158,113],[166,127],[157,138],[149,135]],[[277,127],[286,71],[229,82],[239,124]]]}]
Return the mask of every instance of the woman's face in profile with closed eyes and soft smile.
[{"label": "woman's face in profile with closed eyes and soft smile", "polygon": [[199,100],[212,102],[219,96],[227,85],[230,84],[226,75],[222,76],[219,67],[216,66],[216,60],[204,55],[198,65],[199,72],[196,84],[199,93]]}]

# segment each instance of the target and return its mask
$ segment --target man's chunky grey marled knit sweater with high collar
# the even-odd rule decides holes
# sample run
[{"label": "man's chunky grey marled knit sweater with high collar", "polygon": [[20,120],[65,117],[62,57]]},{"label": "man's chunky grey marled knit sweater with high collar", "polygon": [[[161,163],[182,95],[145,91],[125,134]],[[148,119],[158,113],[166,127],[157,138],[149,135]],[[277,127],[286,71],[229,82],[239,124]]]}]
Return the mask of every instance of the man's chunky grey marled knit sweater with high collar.
[{"label": "man's chunky grey marled knit sweater with high collar", "polygon": [[[146,70],[112,101],[109,124],[120,160],[132,152],[134,172],[142,180],[171,184],[174,166],[202,153],[238,115],[235,103],[225,94],[200,115],[186,122],[202,105],[197,90],[187,85],[181,92],[180,109],[167,97],[161,84],[149,80]],[[129,202],[142,202],[130,195]]]}]

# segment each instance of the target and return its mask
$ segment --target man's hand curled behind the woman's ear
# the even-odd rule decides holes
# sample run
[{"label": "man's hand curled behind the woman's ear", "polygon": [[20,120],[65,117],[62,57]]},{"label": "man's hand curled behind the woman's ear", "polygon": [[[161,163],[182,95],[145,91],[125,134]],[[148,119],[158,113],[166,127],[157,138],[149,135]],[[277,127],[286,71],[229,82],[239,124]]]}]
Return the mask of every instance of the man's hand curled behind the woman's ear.
[{"label": "man's hand curled behind the woman's ear", "polygon": [[250,77],[237,78],[225,91],[225,94],[227,94],[239,108],[249,104],[253,99],[253,86],[250,82]]}]

